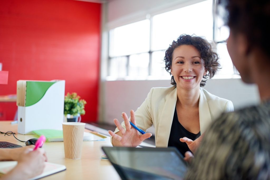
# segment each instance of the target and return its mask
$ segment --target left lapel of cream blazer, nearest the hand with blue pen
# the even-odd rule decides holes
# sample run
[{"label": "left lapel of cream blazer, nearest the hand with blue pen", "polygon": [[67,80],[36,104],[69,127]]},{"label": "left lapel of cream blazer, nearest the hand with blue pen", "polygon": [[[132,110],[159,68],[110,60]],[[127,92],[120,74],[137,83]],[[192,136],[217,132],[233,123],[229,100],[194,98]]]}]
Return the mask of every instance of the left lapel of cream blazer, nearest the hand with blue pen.
[{"label": "left lapel of cream blazer, nearest the hand with blue pen", "polygon": [[177,101],[176,88],[168,94],[164,104],[158,129],[156,132],[156,147],[167,147],[171,132],[171,124],[173,123],[174,109]]}]

